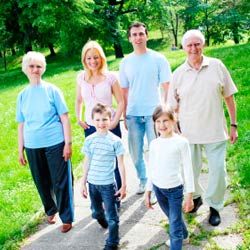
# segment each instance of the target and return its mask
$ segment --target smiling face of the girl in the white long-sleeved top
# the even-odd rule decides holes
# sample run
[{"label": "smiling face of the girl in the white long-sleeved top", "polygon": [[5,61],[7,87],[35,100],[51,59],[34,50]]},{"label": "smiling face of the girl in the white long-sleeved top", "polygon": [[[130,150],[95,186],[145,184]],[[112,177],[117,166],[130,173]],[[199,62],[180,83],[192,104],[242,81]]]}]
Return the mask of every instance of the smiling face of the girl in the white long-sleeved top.
[{"label": "smiling face of the girl in the white long-sleeved top", "polygon": [[155,121],[155,129],[161,137],[170,137],[174,133],[175,121],[171,120],[168,115],[163,114]]}]

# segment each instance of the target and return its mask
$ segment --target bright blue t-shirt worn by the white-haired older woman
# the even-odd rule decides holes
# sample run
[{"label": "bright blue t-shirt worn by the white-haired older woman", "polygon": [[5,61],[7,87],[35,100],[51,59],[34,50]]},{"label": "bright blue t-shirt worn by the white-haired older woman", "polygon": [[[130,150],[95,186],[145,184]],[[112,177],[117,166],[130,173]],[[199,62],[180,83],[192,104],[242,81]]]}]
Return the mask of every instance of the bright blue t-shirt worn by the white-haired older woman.
[{"label": "bright blue t-shirt worn by the white-haired older woman", "polygon": [[42,82],[28,85],[17,98],[16,120],[24,123],[24,146],[44,148],[64,141],[60,115],[67,113],[62,92],[54,85]]}]

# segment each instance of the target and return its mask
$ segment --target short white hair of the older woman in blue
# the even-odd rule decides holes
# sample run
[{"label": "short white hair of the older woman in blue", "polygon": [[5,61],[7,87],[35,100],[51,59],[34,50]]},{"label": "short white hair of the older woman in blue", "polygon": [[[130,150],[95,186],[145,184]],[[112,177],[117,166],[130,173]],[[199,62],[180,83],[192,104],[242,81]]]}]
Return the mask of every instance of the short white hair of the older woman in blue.
[{"label": "short white hair of the older woman in blue", "polygon": [[24,72],[25,75],[27,75],[27,68],[28,68],[31,61],[40,62],[42,64],[42,67],[43,67],[42,74],[45,72],[45,70],[46,70],[45,56],[40,52],[29,51],[27,54],[25,54],[23,56],[23,60],[22,60],[22,71]]}]

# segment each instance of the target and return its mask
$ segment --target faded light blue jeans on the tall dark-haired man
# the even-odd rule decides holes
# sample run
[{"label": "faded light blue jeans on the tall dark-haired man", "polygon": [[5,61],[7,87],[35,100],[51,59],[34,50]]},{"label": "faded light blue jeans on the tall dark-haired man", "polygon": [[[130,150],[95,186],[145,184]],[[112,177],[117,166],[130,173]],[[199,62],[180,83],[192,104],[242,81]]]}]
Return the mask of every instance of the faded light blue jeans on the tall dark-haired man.
[{"label": "faded light blue jeans on the tall dark-haired man", "polygon": [[126,116],[128,127],[129,153],[137,171],[137,177],[141,184],[146,184],[147,175],[145,160],[143,157],[144,136],[146,134],[148,144],[155,138],[152,116]]}]

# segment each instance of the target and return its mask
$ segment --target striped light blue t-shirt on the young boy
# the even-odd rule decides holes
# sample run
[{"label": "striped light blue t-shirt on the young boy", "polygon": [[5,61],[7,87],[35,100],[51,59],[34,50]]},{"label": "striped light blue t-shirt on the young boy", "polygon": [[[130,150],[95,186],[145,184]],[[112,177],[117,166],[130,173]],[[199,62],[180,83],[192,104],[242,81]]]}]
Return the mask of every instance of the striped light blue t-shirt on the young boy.
[{"label": "striped light blue t-shirt on the young boy", "polygon": [[109,185],[114,183],[116,156],[124,154],[121,138],[111,132],[94,134],[85,139],[82,152],[89,159],[87,180],[94,185]]}]

